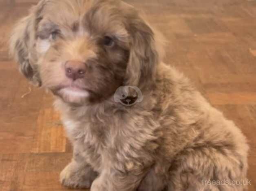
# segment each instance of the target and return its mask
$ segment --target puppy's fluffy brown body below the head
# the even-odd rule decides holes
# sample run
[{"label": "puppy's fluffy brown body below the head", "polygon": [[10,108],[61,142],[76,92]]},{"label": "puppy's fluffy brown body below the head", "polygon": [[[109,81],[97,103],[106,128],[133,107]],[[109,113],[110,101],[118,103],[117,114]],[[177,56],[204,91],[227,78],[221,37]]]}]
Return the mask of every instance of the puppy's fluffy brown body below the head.
[{"label": "puppy's fluffy brown body below the head", "polygon": [[[241,131],[177,70],[162,63],[156,81],[156,88],[132,109],[117,107],[112,98],[81,108],[57,100],[74,145],[72,163],[84,160],[101,175],[96,180],[108,186],[124,181],[120,190],[140,184],[139,191],[243,191],[245,185],[206,182],[246,183],[248,147]],[[133,176],[128,178],[129,173]],[[72,186],[66,171],[61,178]]]}]

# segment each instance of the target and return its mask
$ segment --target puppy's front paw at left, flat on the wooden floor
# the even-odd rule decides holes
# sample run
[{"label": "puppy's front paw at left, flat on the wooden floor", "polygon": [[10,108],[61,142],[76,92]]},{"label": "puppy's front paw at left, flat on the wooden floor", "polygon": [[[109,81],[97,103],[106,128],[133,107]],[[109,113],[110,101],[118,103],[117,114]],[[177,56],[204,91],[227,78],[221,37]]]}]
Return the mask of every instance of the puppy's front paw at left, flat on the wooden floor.
[{"label": "puppy's front paw at left, flat on the wooden floor", "polygon": [[[86,167],[84,169],[86,171]],[[63,186],[72,189],[89,189],[95,174],[83,174],[83,169],[78,169],[70,163],[60,173],[60,182]]]}]

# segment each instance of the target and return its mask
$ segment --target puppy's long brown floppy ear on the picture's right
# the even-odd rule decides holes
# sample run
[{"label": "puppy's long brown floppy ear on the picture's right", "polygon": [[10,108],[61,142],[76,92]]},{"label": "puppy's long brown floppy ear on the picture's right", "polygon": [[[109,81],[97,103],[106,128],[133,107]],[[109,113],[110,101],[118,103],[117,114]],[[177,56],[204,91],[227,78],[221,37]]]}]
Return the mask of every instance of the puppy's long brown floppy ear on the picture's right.
[{"label": "puppy's long brown floppy ear on the picture's right", "polygon": [[157,64],[163,56],[162,35],[139,16],[131,19],[130,58],[126,70],[126,85],[143,88],[154,82]]}]

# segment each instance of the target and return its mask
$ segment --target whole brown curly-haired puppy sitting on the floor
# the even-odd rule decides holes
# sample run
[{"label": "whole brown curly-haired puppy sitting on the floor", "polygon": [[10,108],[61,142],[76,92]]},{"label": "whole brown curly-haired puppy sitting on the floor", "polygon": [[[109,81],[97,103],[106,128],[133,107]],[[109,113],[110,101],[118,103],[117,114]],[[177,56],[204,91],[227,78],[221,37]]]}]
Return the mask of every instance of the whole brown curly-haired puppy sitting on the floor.
[{"label": "whole brown curly-haired puppy sitting on the floor", "polygon": [[[53,92],[73,143],[64,186],[246,190],[234,184],[246,180],[245,137],[161,62],[162,41],[119,0],[42,0],[18,22],[11,53],[26,78]],[[127,106],[115,92],[140,101]]]}]

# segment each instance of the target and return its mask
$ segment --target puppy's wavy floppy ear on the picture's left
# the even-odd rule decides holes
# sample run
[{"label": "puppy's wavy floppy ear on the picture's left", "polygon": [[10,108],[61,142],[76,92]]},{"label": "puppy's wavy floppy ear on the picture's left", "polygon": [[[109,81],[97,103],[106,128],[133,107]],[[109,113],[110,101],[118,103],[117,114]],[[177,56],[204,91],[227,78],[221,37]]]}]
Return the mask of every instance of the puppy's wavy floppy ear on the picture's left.
[{"label": "puppy's wavy floppy ear on the picture's left", "polygon": [[41,80],[36,65],[35,31],[38,23],[42,20],[40,13],[46,1],[41,0],[31,9],[29,16],[24,17],[16,24],[9,43],[10,54],[19,63],[20,72],[38,87],[41,86]]}]

